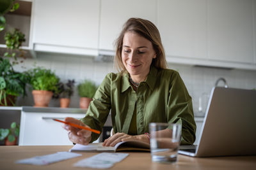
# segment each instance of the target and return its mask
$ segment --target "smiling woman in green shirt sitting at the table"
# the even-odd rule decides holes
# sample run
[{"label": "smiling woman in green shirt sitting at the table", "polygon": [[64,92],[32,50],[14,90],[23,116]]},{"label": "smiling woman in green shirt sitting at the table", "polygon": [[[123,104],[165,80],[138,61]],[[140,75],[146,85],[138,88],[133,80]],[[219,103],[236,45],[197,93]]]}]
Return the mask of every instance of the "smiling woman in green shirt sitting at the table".
[{"label": "smiling woman in green shirt sitting at the table", "polygon": [[[115,134],[103,146],[129,140],[148,143],[150,122],[182,124],[181,145],[192,145],[196,130],[192,99],[179,73],[166,69],[160,34],[152,22],[127,20],[116,40],[115,65],[120,72],[106,75],[85,117],[65,121],[101,131],[111,110]],[[63,127],[73,143],[87,145],[99,138],[90,131]]]}]

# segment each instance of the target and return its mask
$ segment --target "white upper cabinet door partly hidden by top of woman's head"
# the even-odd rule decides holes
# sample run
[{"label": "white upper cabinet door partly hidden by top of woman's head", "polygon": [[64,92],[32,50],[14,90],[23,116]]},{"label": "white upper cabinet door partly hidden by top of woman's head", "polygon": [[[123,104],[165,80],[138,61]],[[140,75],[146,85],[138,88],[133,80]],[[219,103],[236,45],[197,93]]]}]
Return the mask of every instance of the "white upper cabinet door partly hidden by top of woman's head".
[{"label": "white upper cabinet door partly hidden by top of woman's head", "polygon": [[114,50],[115,39],[122,31],[125,21],[131,17],[144,18],[156,24],[156,4],[156,0],[102,0],[99,48]]}]

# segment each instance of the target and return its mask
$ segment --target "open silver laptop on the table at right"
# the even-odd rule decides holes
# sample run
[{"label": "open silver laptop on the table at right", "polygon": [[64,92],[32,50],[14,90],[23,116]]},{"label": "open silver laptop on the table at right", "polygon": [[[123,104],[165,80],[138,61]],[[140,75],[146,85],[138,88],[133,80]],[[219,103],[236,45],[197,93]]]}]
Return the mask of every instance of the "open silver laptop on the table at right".
[{"label": "open silver laptop on the table at right", "polygon": [[256,155],[256,90],[214,87],[198,145],[180,146],[191,157]]}]

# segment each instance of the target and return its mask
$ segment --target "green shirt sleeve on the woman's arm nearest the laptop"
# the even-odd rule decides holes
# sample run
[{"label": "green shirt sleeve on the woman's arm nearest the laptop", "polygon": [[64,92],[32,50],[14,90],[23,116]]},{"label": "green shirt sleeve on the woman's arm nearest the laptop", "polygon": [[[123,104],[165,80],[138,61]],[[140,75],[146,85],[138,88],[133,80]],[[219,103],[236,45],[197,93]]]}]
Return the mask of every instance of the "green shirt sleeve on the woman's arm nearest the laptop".
[{"label": "green shirt sleeve on the woman's arm nearest the laptop", "polygon": [[179,73],[171,76],[168,98],[168,122],[182,124],[180,145],[193,145],[195,142],[196,124],[193,113],[192,98]]}]

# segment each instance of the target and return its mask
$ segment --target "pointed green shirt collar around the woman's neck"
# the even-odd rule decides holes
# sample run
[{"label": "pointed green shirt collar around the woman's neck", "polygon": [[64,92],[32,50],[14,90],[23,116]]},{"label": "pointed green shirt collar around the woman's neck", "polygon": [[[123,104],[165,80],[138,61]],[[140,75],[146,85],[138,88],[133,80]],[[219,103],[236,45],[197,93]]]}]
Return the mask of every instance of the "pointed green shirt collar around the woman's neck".
[{"label": "pointed green shirt collar around the woman's neck", "polygon": [[[150,90],[153,90],[156,84],[156,76],[157,76],[157,68],[154,66],[150,66],[150,71],[148,73],[148,76],[145,80]],[[123,73],[122,78],[122,90],[121,92],[124,92],[125,90],[129,89],[131,87],[130,81],[129,81],[129,73],[128,71],[125,71]],[[132,88],[132,87],[131,87]]]}]

